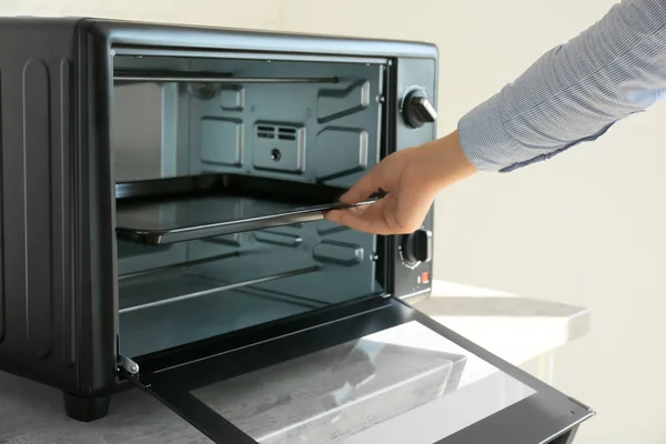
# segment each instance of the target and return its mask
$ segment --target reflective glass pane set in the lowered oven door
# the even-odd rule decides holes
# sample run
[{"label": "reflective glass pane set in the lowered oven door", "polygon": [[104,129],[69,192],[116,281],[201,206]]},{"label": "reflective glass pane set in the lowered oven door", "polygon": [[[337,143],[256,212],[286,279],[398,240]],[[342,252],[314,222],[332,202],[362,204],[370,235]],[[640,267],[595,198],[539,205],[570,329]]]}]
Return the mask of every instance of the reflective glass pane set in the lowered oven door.
[{"label": "reflective glass pane set in the lowered oven door", "polygon": [[430,444],[533,393],[411,322],[193,394],[260,443]]}]

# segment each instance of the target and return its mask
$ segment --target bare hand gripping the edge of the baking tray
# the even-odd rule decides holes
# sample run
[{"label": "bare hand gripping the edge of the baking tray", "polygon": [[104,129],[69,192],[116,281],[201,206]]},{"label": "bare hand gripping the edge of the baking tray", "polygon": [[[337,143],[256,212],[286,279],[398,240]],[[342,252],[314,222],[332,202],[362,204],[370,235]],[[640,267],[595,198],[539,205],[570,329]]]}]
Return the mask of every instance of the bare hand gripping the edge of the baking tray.
[{"label": "bare hand gripping the edge of the baking tray", "polygon": [[475,172],[453,132],[386,157],[340,201],[355,204],[380,189],[387,194],[370,205],[330,211],[326,219],[375,234],[411,233],[423,223],[438,191]]}]

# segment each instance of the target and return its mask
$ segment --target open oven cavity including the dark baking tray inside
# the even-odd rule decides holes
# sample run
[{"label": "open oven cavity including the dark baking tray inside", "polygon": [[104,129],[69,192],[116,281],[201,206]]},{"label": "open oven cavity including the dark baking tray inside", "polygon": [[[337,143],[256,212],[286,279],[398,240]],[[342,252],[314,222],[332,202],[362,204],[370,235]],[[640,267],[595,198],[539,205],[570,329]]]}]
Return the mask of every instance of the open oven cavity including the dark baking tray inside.
[{"label": "open oven cavity including the dark baking tray inside", "polygon": [[113,58],[119,353],[383,295],[382,238],[321,220],[384,155],[386,64]]}]

